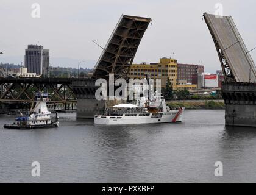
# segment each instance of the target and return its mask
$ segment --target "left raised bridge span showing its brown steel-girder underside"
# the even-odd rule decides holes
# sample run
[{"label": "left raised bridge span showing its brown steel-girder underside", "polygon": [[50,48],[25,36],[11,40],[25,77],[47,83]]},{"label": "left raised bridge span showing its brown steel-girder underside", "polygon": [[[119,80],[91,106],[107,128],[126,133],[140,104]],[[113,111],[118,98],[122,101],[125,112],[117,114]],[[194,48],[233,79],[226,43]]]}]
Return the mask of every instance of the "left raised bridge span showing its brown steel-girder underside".
[{"label": "left raised bridge span showing its brown steel-girder underside", "polygon": [[93,71],[93,78],[126,78],[151,18],[121,15]]}]

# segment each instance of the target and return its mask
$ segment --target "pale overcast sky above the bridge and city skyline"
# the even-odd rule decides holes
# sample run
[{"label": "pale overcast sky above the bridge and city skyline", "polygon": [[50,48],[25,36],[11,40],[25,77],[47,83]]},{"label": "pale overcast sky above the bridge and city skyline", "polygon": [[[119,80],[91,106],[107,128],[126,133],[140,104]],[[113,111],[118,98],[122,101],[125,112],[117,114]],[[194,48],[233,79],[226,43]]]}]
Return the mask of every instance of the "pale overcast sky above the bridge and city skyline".
[{"label": "pale overcast sky above the bridge and city skyline", "polygon": [[[40,18],[33,18],[32,4],[40,5]],[[120,16],[152,19],[141,40],[134,63],[158,62],[174,57],[179,63],[221,69],[218,54],[202,14],[216,13],[233,20],[250,50],[256,47],[256,2],[254,0],[0,0],[0,62],[20,64],[27,44],[49,49],[52,66],[93,68]],[[174,54],[173,54],[174,53]],[[256,49],[251,52],[255,60]]]}]

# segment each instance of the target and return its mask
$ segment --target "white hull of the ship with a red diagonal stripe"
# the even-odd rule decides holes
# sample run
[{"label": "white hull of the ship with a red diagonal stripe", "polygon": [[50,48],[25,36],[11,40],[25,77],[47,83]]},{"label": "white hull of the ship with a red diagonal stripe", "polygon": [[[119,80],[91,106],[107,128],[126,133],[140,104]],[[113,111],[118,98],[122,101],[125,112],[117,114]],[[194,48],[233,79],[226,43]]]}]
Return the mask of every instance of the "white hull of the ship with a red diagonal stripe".
[{"label": "white hull of the ship with a red diagonal stripe", "polygon": [[124,125],[124,124],[151,124],[151,123],[166,123],[166,122],[181,122],[185,108],[179,110],[171,110],[163,113],[160,118],[152,118],[152,113],[149,116],[94,116],[94,124],[104,125]]}]

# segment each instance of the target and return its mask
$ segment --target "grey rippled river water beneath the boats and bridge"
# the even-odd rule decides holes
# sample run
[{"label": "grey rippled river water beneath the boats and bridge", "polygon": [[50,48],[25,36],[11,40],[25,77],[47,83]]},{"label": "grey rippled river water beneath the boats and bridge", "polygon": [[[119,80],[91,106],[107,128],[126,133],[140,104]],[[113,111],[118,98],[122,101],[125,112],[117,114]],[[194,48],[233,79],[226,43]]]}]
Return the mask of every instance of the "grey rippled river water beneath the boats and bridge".
[{"label": "grey rippled river water beneath the boats and bridge", "polygon": [[[59,116],[56,129],[11,130],[2,126],[13,116],[0,115],[0,182],[256,182],[256,129],[227,129],[224,110],[116,127]],[[40,177],[32,177],[33,161]]]}]

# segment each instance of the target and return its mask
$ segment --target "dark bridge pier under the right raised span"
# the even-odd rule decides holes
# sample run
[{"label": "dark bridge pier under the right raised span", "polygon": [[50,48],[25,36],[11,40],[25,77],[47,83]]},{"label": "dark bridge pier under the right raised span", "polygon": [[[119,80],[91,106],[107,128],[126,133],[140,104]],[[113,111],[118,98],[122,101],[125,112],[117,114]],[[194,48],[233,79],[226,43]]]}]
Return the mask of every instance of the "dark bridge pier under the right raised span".
[{"label": "dark bridge pier under the right raised span", "polygon": [[226,126],[256,127],[256,83],[223,83]]}]

